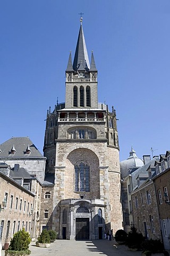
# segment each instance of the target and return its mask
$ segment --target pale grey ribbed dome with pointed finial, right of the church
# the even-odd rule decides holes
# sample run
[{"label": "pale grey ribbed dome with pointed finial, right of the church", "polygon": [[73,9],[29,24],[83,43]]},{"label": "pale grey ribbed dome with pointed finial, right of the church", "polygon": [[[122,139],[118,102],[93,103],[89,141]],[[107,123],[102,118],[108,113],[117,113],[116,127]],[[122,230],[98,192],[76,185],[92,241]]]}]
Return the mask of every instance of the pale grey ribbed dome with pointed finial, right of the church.
[{"label": "pale grey ribbed dome with pointed finial, right of the church", "polygon": [[133,148],[129,154],[126,160],[120,162],[122,178],[125,178],[129,174],[129,169],[143,166],[143,160],[137,157]]}]

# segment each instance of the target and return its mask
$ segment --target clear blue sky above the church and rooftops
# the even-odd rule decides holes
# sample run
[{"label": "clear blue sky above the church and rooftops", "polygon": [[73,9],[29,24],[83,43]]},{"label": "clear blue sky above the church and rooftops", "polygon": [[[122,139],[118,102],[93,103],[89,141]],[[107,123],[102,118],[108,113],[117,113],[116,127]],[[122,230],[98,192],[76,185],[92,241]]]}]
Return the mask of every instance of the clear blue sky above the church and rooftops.
[{"label": "clear blue sky above the church and rooftops", "polygon": [[[65,69],[83,14],[98,101],[116,109],[120,161],[170,150],[169,0],[0,2],[0,144],[27,137],[43,154],[49,106],[65,101]],[[152,151],[151,151],[152,148]]]}]

